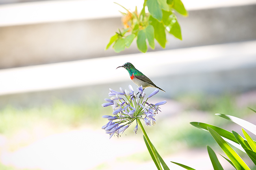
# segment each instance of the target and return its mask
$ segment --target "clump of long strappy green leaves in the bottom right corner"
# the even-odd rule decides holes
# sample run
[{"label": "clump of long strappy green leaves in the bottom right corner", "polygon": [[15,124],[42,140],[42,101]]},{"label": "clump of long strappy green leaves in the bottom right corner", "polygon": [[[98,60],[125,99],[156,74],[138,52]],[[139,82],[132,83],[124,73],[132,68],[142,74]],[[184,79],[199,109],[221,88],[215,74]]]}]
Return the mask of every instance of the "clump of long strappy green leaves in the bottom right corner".
[{"label": "clump of long strappy green leaves in the bottom right corner", "polygon": [[[253,109],[251,110],[256,113],[255,110]],[[219,128],[217,126],[213,126],[210,124],[206,124],[202,122],[191,122],[191,124],[197,128],[210,132],[211,136],[215,139],[217,144],[221,147],[221,149],[223,150],[223,152],[226,154],[228,158],[224,157],[223,155],[221,156],[224,159],[226,159],[226,161],[228,161],[228,163],[230,163],[236,170],[250,170],[249,166],[243,161],[243,159],[236,153],[236,151],[229,144],[245,152],[248,155],[248,157],[251,159],[252,163],[256,165],[256,142],[252,140],[250,135],[244,130],[244,129],[247,129],[248,131],[256,135],[256,125],[230,115],[224,115],[224,114],[215,114],[215,115],[223,117],[224,119],[232,121],[238,124],[239,126],[243,127],[242,132],[245,138],[243,138],[241,135],[239,135],[235,131],[229,132],[227,130],[224,130],[222,128]],[[208,154],[210,156],[211,163],[213,165],[214,170],[223,170],[223,167],[219,163],[219,160],[215,152],[210,148],[210,146],[207,146],[207,150],[208,150]],[[189,166],[186,166],[186,165],[182,165],[180,163],[175,163],[175,164],[182,166],[187,170],[194,170],[193,168],[190,168]]]}]

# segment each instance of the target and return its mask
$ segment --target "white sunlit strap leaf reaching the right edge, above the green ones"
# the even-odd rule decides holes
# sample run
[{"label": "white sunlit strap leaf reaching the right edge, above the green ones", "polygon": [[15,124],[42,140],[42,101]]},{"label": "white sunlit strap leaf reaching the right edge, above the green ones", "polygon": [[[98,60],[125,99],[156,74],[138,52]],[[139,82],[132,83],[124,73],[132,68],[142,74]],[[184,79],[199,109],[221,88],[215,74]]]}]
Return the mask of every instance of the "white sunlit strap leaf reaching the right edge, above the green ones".
[{"label": "white sunlit strap leaf reaching the right edge, above the green ones", "polygon": [[254,135],[256,135],[256,126],[250,122],[247,122],[243,119],[240,119],[240,118],[237,118],[237,117],[234,117],[234,116],[230,116],[230,115],[224,115],[224,114],[219,114],[219,113],[216,113],[215,115],[218,115],[220,117],[223,117],[229,121],[232,121],[240,126],[242,126],[243,128],[249,130],[250,132],[252,132]]}]

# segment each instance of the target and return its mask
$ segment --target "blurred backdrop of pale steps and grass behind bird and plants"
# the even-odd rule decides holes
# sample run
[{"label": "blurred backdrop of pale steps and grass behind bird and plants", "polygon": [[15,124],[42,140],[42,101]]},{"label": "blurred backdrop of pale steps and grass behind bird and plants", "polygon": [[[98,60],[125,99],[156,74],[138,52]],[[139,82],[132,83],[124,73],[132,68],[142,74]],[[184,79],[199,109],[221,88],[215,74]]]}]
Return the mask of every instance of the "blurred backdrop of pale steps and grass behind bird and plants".
[{"label": "blurred backdrop of pale steps and grass behind bird and plants", "polygon": [[[109,88],[128,90],[125,62],[147,75],[166,100],[156,125],[145,127],[167,165],[175,161],[212,169],[206,145],[222,153],[204,122],[240,133],[214,115],[256,124],[256,0],[183,0],[178,15],[183,40],[168,35],[166,49],[139,53],[104,51],[122,28],[122,10],[142,0],[0,0],[0,169],[156,169],[142,132],[128,128],[119,139],[101,127]],[[149,95],[153,88],[145,93]],[[135,125],[134,125],[135,126]],[[255,139],[254,139],[255,140]],[[218,155],[219,157],[219,155]],[[232,169],[219,157],[224,169]],[[200,163],[200,166],[199,166]],[[249,162],[250,164],[250,162]]]}]

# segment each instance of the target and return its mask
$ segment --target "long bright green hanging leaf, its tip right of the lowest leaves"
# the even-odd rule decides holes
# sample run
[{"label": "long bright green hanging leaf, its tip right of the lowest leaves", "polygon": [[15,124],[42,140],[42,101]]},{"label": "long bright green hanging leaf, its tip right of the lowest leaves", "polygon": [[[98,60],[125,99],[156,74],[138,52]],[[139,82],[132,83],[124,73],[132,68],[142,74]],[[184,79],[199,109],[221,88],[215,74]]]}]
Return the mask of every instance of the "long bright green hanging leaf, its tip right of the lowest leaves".
[{"label": "long bright green hanging leaf, its tip right of the lowest leaves", "polygon": [[149,18],[150,25],[154,27],[154,35],[158,43],[162,48],[165,48],[166,43],[166,35],[165,35],[165,27],[161,22],[158,22],[155,18],[150,16]]}]

